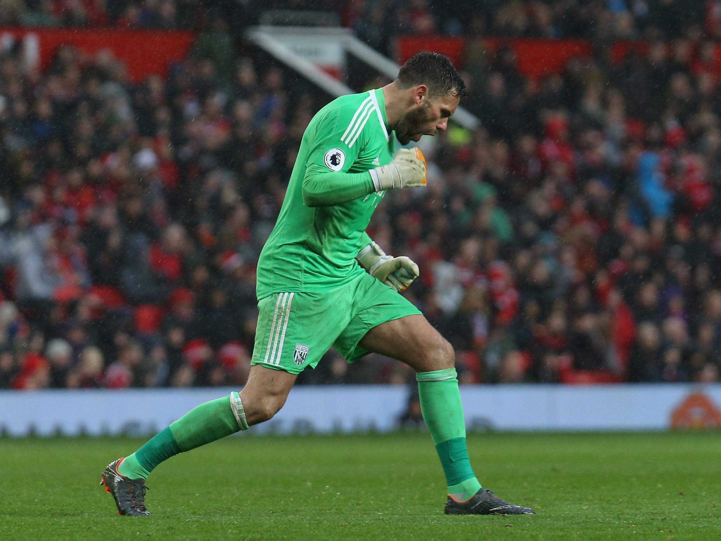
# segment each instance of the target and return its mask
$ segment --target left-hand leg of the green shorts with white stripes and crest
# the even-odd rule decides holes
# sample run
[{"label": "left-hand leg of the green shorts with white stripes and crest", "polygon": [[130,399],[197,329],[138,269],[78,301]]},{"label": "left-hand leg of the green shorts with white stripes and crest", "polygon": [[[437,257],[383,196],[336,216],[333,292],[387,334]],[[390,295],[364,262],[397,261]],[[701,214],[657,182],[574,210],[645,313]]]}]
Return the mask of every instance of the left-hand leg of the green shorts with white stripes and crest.
[{"label": "left-hand leg of the green shorts with white stripes and crest", "polygon": [[300,374],[315,368],[350,322],[351,289],[276,293],[258,302],[252,365]]}]

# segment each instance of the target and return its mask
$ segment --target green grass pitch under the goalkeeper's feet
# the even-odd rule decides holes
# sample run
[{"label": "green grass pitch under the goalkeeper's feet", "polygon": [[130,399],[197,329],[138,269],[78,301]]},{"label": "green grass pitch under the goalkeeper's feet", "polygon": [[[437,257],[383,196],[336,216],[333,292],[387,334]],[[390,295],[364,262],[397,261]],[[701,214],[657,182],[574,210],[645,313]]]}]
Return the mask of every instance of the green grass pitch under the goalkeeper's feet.
[{"label": "green grass pitch under the goalkeeper's feet", "polygon": [[98,485],[131,439],[0,439],[0,540],[719,540],[721,434],[469,436],[484,485],[536,516],[446,516],[428,434],[225,439]]}]

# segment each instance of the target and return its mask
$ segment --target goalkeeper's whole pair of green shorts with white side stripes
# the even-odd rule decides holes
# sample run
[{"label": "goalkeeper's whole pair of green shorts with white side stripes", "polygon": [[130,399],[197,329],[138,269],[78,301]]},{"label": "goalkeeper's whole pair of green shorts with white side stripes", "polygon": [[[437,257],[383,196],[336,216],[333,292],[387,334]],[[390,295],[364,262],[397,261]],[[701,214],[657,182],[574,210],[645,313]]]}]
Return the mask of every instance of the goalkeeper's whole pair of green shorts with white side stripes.
[{"label": "goalkeeper's whole pair of green shorts with white side stripes", "polygon": [[250,364],[291,374],[315,368],[335,348],[348,362],[368,351],[358,342],[386,321],[420,314],[410,301],[368,273],[322,293],[275,293],[258,302]]}]

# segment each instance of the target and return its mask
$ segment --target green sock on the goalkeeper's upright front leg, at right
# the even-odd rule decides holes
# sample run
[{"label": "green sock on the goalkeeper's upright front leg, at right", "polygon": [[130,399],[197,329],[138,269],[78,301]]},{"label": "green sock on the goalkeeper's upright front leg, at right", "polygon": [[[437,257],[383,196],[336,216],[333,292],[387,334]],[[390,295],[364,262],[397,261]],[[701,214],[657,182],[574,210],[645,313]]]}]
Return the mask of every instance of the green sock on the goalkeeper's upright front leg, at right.
[{"label": "green sock on the goalkeeper's upright front leg, at right", "polygon": [[466,501],[481,488],[466,449],[466,423],[456,369],[415,374],[420,410],[446,474],[448,494]]}]

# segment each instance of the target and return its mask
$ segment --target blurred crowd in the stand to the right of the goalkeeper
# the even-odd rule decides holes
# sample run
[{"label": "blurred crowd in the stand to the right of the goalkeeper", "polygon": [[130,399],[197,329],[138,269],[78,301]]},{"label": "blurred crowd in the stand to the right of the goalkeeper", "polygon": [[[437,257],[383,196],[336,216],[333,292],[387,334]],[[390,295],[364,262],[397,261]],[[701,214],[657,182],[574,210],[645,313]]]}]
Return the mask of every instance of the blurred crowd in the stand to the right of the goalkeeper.
[{"label": "blurred crowd in the stand to the right of the goalkeeper", "polygon": [[484,128],[443,138],[408,211],[438,258],[425,312],[472,380],[719,380],[716,45],[610,54],[541,80],[510,49],[466,55]]}]

